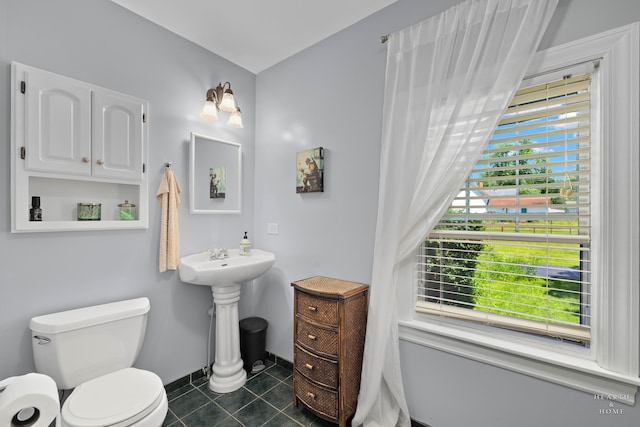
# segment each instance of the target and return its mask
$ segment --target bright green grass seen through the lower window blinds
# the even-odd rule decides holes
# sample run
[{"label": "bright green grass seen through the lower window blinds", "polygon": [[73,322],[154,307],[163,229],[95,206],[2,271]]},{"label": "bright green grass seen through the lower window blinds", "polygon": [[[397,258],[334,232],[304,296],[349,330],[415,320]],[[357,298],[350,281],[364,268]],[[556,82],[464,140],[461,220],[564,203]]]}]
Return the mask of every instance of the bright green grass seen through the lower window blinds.
[{"label": "bright green grass seen through the lower window blinds", "polygon": [[[532,221],[485,224],[488,232],[577,234],[575,221]],[[524,242],[523,242],[524,243]],[[548,319],[580,324],[580,281],[542,276],[543,271],[579,269],[577,244],[527,242],[518,245],[486,244],[474,273],[476,310],[532,320]],[[545,265],[553,260],[554,265]]]}]

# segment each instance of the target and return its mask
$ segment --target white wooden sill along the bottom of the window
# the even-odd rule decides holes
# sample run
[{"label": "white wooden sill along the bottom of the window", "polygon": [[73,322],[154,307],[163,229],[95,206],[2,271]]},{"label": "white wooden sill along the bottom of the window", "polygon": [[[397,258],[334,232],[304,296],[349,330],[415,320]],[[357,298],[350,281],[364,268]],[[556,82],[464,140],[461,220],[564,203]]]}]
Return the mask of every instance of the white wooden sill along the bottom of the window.
[{"label": "white wooden sill along the bottom of the window", "polygon": [[527,341],[465,330],[445,322],[399,322],[400,339],[564,385],[627,405],[635,404],[640,378],[599,367],[595,361],[529,345]]}]

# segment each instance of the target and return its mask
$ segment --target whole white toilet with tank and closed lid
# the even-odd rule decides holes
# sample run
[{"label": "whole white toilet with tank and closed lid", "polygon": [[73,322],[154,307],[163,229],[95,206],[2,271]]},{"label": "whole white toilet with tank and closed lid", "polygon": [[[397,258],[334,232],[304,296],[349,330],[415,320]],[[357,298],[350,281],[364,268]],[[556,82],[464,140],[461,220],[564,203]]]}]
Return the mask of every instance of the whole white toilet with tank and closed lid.
[{"label": "whole white toilet with tank and closed lid", "polygon": [[74,389],[62,427],[160,427],[167,394],[160,377],[133,368],[147,327],[148,298],[37,316],[29,327],[36,370]]}]

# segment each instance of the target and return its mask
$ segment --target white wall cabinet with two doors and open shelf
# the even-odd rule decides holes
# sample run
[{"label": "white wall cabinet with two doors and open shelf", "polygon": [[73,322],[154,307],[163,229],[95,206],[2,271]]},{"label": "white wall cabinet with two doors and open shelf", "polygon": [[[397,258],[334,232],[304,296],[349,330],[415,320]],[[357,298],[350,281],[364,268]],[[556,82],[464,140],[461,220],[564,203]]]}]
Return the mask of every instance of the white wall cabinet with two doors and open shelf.
[{"label": "white wall cabinet with two doors and open shelf", "polygon": [[[17,62],[11,77],[12,232],[147,228],[148,103]],[[136,219],[118,218],[125,200]],[[101,219],[77,221],[78,203]]]}]

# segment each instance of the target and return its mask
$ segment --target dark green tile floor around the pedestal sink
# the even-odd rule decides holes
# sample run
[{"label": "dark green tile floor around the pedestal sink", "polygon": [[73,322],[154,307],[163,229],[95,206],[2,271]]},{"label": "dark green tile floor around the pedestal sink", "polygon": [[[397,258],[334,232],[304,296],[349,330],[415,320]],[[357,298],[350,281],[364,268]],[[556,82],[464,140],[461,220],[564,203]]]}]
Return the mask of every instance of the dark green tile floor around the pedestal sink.
[{"label": "dark green tile floor around the pedestal sink", "polygon": [[169,412],[163,427],[335,426],[302,405],[293,406],[289,362],[267,360],[266,366],[249,375],[247,383],[232,393],[209,390],[205,377],[183,385],[172,383],[167,387]]}]

